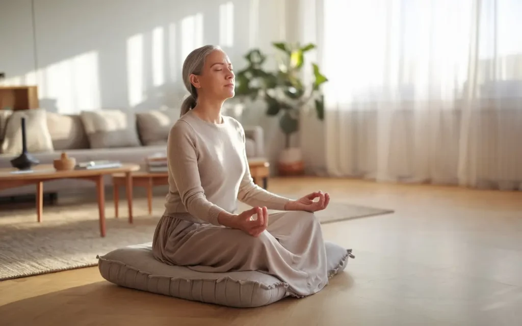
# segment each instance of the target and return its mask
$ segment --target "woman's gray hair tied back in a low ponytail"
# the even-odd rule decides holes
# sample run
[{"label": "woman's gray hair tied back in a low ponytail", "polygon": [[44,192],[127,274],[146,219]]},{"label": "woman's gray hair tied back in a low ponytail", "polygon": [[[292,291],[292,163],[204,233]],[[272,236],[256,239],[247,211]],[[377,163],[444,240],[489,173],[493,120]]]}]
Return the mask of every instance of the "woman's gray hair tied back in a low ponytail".
[{"label": "woman's gray hair tied back in a low ponytail", "polygon": [[191,83],[189,77],[191,74],[201,74],[201,70],[203,69],[203,66],[205,66],[205,59],[207,58],[207,55],[215,50],[221,50],[221,48],[216,45],[204,45],[198,47],[196,50],[193,50],[185,58],[185,61],[183,62],[183,70],[181,73],[183,75],[183,83],[185,84],[185,88],[190,94],[181,104],[180,117],[189,110],[192,110],[197,103],[197,90]]}]

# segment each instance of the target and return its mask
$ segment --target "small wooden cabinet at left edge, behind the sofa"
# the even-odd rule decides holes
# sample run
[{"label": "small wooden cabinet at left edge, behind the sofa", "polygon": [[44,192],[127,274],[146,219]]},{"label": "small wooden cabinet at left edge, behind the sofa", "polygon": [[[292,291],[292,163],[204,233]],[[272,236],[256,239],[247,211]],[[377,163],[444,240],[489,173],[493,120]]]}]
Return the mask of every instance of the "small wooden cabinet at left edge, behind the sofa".
[{"label": "small wooden cabinet at left edge, behind the sofa", "polygon": [[38,108],[38,86],[0,86],[0,110]]}]

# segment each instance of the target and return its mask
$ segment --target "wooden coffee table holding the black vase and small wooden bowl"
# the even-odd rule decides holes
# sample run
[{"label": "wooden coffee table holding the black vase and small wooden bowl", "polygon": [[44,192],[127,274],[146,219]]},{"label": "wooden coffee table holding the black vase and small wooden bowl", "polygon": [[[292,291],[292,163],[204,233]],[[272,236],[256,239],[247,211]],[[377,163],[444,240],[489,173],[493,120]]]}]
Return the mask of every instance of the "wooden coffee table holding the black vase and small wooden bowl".
[{"label": "wooden coffee table holding the black vase and small wooden bowl", "polygon": [[52,165],[37,165],[29,172],[17,171],[15,168],[0,169],[0,190],[16,188],[26,185],[36,185],[36,208],[38,222],[42,222],[43,215],[43,182],[56,179],[91,180],[96,183],[98,210],[100,218],[100,235],[105,236],[105,194],[103,176],[114,173],[124,173],[129,201],[129,223],[132,223],[132,177],[134,171],[139,170],[137,164],[123,164],[121,167],[100,168],[93,170],[56,171]]}]

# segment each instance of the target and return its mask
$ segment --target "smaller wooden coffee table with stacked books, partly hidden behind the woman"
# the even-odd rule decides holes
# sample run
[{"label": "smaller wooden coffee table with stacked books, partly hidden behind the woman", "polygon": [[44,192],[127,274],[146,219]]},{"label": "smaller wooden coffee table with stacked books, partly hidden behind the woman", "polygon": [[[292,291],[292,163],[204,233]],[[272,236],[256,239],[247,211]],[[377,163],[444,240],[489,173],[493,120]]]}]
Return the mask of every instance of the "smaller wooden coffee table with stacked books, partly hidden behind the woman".
[{"label": "smaller wooden coffee table with stacked books, partly hidden behind the woman", "polygon": [[[248,167],[250,167],[250,174],[254,179],[254,183],[258,186],[261,186],[261,182],[263,183],[263,188],[267,188],[268,185],[268,176],[270,175],[270,164],[265,159],[252,159],[248,160]],[[128,183],[125,178],[125,174],[123,173],[115,173],[112,176],[112,184],[114,191],[114,214],[118,216],[118,199],[120,197],[120,187],[124,186],[126,188],[128,194],[128,185],[145,187],[147,189],[147,204],[149,209],[149,214],[152,214],[152,188],[154,186],[160,185],[168,185],[169,184],[169,174],[167,172],[148,172],[148,171],[138,171],[132,174],[132,183]],[[132,206],[132,201],[128,200],[129,209]]]}]

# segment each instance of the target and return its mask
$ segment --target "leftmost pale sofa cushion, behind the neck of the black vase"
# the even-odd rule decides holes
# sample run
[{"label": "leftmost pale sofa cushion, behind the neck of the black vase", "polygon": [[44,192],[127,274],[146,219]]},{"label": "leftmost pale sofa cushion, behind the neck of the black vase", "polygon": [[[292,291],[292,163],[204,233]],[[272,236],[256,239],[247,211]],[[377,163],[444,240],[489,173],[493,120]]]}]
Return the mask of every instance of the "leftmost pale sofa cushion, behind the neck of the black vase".
[{"label": "leftmost pale sofa cushion, behind the neck of the black vase", "polygon": [[26,118],[27,150],[31,153],[53,151],[53,142],[47,126],[46,111],[42,108],[13,111],[5,128],[2,153],[19,154],[22,151],[22,117]]}]

